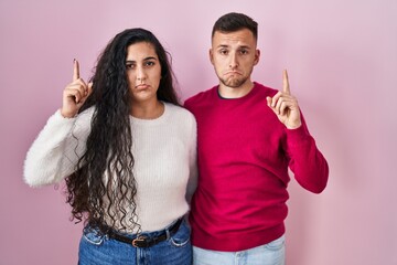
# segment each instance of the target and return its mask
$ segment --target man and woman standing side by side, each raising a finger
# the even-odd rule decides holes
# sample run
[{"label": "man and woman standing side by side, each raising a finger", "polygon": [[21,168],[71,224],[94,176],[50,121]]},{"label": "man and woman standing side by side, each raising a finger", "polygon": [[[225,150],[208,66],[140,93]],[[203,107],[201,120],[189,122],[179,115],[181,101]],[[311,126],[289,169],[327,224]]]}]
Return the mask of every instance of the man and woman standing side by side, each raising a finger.
[{"label": "man and woman standing side by side, each raising a finger", "polygon": [[279,92],[251,81],[257,33],[242,13],[215,22],[219,84],[184,107],[168,53],[147,30],[117,34],[88,83],[74,61],[24,178],[65,179],[72,214],[86,222],[79,264],[285,264],[288,168],[315,193],[329,168],[287,72]]}]

